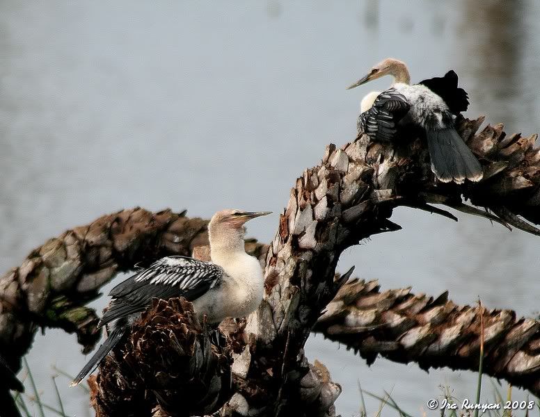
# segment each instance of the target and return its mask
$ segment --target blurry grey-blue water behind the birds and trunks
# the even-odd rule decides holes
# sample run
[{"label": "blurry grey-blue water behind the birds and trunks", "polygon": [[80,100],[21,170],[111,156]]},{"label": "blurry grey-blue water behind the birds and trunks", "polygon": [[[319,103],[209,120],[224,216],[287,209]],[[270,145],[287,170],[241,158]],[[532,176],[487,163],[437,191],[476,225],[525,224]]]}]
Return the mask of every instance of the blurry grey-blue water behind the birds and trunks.
[{"label": "blurry grey-blue water behind the birds and trunks", "polygon": [[[467,115],[538,132],[539,16],[536,0],[3,0],[1,270],[69,227],[133,206],[203,218],[223,207],[272,210],[248,228],[271,240],[296,176],[328,142],[354,139],[361,97],[390,79],[345,87],[387,56],[405,60],[413,81],[453,68],[470,95]],[[399,209],[392,220],[404,230],[347,250],[340,270],[356,265],[383,289],[449,289],[459,303],[481,297],[537,313],[538,238],[457,216]],[[307,354],[342,384],[343,416],[358,411],[358,381],[392,391],[413,415],[440,385],[475,397],[474,373],[383,359],[368,368],[321,336]],[[74,336],[51,330],[28,359],[50,404],[51,366],[74,375],[86,360]],[[86,393],[58,383],[70,415],[92,414]],[[482,398],[493,398],[486,378]],[[378,402],[366,400],[373,414]]]}]

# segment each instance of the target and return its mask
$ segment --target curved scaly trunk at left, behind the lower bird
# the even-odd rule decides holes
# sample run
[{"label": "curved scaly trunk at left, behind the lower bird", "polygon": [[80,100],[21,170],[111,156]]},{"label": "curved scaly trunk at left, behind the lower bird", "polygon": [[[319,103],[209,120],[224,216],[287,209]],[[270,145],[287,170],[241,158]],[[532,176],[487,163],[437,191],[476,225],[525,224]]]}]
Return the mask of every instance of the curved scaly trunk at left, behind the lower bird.
[{"label": "curved scaly trunk at left, behind the lower bird", "polygon": [[95,311],[84,304],[100,286],[138,261],[190,254],[206,242],[205,233],[205,220],[134,208],[47,240],[0,277],[0,350],[6,360],[19,368],[38,326],[76,332],[84,352],[90,351],[100,334]]}]

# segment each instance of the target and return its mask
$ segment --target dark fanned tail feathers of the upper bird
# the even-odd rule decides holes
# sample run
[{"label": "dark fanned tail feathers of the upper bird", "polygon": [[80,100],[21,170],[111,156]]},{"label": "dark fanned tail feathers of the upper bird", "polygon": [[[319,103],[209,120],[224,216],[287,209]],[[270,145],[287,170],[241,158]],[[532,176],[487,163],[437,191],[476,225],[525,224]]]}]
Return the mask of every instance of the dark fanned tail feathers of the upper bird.
[{"label": "dark fanned tail feathers of the upper bird", "polygon": [[463,183],[465,179],[482,179],[482,165],[455,129],[427,129],[426,136],[431,170],[440,181]]}]

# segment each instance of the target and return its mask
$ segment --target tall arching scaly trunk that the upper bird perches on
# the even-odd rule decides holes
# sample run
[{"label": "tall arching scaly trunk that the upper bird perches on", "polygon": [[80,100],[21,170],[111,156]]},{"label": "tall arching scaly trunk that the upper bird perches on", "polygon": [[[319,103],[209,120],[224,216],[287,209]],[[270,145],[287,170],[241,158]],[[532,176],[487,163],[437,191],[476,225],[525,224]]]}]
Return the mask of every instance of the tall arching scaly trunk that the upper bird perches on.
[{"label": "tall arching scaly trunk that the upper bird perches on", "polygon": [[[540,149],[533,149],[536,136],[506,136],[502,126],[487,126],[475,135],[482,121],[459,122],[463,138],[482,158],[486,179],[480,183],[434,183],[420,139],[404,138],[404,146],[395,146],[370,143],[367,136],[341,149],[329,145],[322,164],[305,170],[296,181],[269,248],[264,301],[248,318],[246,331],[256,335],[257,354],[247,368],[246,385],[258,386],[256,393],[240,392],[248,402],[247,414],[308,415],[297,395],[299,381],[307,372],[302,349],[321,311],[340,287],[340,281],[333,279],[337,259],[342,250],[363,238],[399,229],[389,220],[395,206],[452,217],[428,203],[443,202],[473,211],[463,204],[461,195],[465,195],[490,208],[491,218],[537,233],[518,218],[540,222]],[[418,349],[418,345],[411,348]],[[511,357],[513,353],[514,346],[507,346],[506,354]],[[521,367],[527,368],[523,363]],[[333,415],[334,410],[329,408],[327,414]]]}]

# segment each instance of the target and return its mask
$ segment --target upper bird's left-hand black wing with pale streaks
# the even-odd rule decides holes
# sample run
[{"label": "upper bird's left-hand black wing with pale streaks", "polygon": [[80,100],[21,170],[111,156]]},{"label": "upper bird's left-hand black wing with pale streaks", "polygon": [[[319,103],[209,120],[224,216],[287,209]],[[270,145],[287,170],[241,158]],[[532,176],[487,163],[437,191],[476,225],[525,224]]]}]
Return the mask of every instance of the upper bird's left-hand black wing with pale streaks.
[{"label": "upper bird's left-hand black wing with pale streaks", "polygon": [[366,133],[373,140],[391,141],[397,133],[397,123],[411,106],[404,95],[394,88],[381,92],[373,106],[358,117],[358,133]]}]

